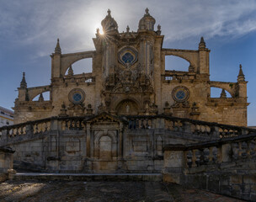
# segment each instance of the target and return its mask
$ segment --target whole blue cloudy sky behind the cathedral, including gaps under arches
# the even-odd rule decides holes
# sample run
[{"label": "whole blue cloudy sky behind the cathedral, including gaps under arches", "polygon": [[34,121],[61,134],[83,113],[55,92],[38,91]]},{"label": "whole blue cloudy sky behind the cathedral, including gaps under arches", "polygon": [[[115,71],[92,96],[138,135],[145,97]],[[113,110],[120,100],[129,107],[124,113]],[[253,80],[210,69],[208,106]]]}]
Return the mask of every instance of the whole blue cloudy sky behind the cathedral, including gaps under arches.
[{"label": "whole blue cloudy sky behind the cathedral, including gaps under arches", "polygon": [[[256,125],[256,1],[254,0],[0,0],[0,106],[11,109],[26,73],[28,87],[51,83],[51,53],[94,50],[96,29],[111,15],[136,31],[145,9],[161,25],[164,48],[197,50],[200,37],[211,50],[212,81],[237,82],[239,64],[248,81],[248,125]],[[91,61],[74,72],[89,71]],[[77,62],[78,63],[78,62]],[[187,68],[170,58],[167,68]],[[178,69],[177,69],[178,68]],[[215,93],[215,91],[213,91]],[[219,93],[219,92],[218,92]]]}]

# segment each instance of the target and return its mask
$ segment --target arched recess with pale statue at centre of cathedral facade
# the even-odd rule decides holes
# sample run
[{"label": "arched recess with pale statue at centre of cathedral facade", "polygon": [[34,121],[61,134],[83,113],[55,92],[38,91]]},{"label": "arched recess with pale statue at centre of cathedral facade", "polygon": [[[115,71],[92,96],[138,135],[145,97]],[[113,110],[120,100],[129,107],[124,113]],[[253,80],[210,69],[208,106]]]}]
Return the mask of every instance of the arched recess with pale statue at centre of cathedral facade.
[{"label": "arched recess with pale statue at centre of cathedral facade", "polygon": [[118,115],[137,115],[139,114],[139,107],[135,101],[125,99],[117,105],[116,112]]}]

